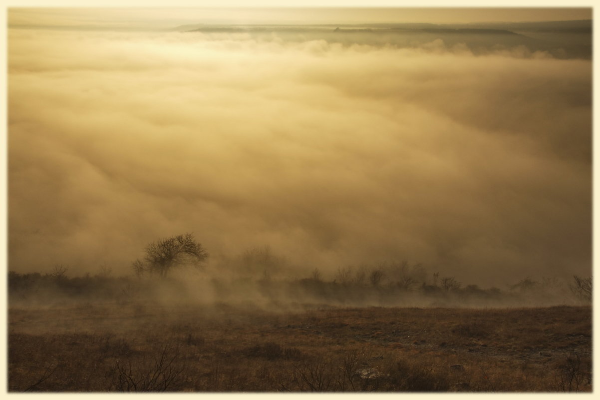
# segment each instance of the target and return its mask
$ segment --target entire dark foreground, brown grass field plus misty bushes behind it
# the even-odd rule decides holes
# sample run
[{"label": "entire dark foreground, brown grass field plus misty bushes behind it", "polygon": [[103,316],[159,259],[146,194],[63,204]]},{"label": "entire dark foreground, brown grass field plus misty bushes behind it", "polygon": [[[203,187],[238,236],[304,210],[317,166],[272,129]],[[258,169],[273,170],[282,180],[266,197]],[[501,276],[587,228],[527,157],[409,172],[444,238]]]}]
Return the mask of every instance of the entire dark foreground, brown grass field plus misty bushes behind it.
[{"label": "entire dark foreground, brown grass field plus misty bushes behind it", "polygon": [[[206,256],[186,238],[164,243]],[[191,271],[154,253],[132,276],[9,273],[8,389],[592,390],[591,277],[483,289],[407,262],[325,279],[293,277],[268,249]]]}]

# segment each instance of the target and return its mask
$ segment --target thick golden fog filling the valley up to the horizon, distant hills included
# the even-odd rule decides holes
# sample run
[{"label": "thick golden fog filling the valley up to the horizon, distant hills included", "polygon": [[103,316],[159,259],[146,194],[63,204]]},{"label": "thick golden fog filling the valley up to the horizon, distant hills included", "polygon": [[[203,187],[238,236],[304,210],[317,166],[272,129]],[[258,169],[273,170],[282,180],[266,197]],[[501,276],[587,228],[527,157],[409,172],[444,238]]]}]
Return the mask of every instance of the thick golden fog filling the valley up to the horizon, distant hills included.
[{"label": "thick golden fog filling the valley up to the horizon, distant hills included", "polygon": [[298,277],[403,259],[481,285],[591,274],[586,23],[127,31],[11,12],[11,271],[131,274],[193,232],[221,271],[268,245]]}]

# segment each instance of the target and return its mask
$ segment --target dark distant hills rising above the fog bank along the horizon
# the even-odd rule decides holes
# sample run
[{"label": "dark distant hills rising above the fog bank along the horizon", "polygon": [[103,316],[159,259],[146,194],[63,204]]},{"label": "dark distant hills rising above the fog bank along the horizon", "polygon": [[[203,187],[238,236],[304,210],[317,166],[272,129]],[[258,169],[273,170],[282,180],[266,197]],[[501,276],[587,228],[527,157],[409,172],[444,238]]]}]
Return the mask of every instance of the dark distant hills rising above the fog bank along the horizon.
[{"label": "dark distant hills rising above the fog bank along the horizon", "polygon": [[[356,25],[181,25],[173,31],[185,34],[247,34],[271,41],[277,35],[287,43],[325,40],[344,46],[376,48],[415,46],[452,49],[473,55],[515,50],[559,59],[592,58],[592,20],[506,23],[368,23]],[[443,42],[443,43],[442,43]]]}]

